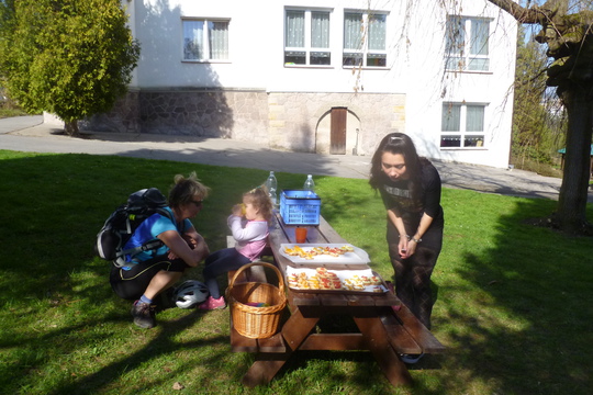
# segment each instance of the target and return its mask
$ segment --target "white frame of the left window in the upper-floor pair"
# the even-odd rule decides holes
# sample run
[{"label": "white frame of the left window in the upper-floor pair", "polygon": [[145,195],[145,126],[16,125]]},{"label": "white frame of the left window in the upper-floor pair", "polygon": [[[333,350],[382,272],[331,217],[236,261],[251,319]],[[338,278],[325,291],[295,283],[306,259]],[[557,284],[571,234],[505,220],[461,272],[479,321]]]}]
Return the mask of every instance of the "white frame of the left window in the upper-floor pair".
[{"label": "white frame of the left window in the upper-floor pair", "polygon": [[[289,46],[288,45],[288,14],[289,12],[303,12],[304,14],[304,43],[303,46]],[[328,40],[327,47],[314,47],[312,42],[312,21],[314,13],[326,13],[329,16],[328,26]],[[333,12],[329,9],[304,9],[304,8],[286,8],[284,9],[284,66],[286,67],[331,67],[332,66],[332,25],[333,25]],[[304,63],[287,61],[289,54],[304,54]],[[327,64],[312,63],[314,54],[318,53],[327,54],[327,56],[320,56],[320,58],[327,57]]]}]

